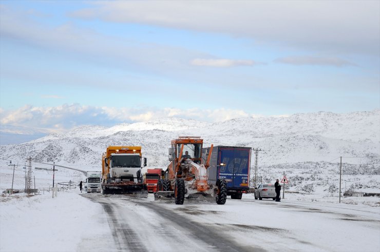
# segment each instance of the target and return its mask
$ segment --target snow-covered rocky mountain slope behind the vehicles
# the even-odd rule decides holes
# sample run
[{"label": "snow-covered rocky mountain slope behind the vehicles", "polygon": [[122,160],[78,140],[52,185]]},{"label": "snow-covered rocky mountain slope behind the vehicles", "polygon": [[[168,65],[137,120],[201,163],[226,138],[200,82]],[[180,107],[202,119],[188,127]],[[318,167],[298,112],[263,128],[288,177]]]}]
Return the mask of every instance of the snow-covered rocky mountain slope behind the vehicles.
[{"label": "snow-covered rocky mountain slope behind the vehicles", "polygon": [[[214,124],[165,118],[110,128],[86,126],[24,144],[0,146],[0,158],[23,163],[30,156],[35,162],[100,170],[101,154],[107,146],[141,145],[148,166],[163,168],[169,163],[170,140],[180,135],[198,135],[205,147],[214,144],[261,149],[258,177],[264,182],[281,179],[285,172],[291,189],[333,190],[339,175],[337,158],[341,156],[347,180],[356,181],[357,188],[380,190],[380,110],[239,118]],[[252,168],[254,159],[253,153]]]}]

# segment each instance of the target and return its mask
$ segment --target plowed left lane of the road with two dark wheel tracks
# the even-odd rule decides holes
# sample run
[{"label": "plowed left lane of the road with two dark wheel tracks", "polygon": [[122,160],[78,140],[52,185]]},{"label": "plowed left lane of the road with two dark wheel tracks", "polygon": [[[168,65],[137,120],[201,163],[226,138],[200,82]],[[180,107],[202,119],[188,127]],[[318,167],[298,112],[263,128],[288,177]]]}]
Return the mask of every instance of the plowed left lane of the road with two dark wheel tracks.
[{"label": "plowed left lane of the road with two dark wheel tracks", "polygon": [[[84,195],[103,205],[120,251],[252,251],[234,242],[218,226],[194,222],[186,215],[199,211],[171,209],[150,199],[103,198]],[[173,206],[173,205],[172,205]],[[180,211],[178,211],[180,210]],[[207,211],[205,211],[207,214]],[[263,251],[256,247],[255,251]]]}]

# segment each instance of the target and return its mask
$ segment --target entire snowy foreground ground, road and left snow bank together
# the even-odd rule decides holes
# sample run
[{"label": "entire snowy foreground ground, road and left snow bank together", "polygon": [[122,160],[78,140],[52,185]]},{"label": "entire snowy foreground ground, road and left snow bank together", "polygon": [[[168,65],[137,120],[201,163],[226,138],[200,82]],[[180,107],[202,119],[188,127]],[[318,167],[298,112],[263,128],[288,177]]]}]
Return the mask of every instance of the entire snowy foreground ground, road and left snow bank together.
[{"label": "entire snowy foreground ground, road and left snow bank together", "polygon": [[273,250],[378,252],[380,207],[252,195],[225,205],[175,205],[153,195],[133,199],[79,189],[54,198],[47,192],[0,198],[1,252]]}]

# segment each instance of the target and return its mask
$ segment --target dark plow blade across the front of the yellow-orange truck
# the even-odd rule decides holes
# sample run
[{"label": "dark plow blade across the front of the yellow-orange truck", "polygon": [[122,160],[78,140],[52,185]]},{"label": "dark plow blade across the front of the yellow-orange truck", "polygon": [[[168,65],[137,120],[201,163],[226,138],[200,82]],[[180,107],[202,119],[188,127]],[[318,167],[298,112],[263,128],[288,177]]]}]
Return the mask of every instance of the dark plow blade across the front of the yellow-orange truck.
[{"label": "dark plow blade across the front of the yellow-orange truck", "polygon": [[120,182],[102,184],[102,194],[123,194],[130,196],[148,197],[148,190],[145,184],[133,182]]}]

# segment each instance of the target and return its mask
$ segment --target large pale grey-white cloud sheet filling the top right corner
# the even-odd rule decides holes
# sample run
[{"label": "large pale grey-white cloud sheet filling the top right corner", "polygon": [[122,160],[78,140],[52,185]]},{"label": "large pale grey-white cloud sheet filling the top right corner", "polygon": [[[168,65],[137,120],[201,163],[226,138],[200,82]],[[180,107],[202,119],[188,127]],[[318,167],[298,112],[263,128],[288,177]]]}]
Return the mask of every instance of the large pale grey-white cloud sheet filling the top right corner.
[{"label": "large pale grey-white cloud sheet filling the top right corner", "polygon": [[379,1],[104,1],[83,18],[253,38],[276,46],[378,55]]}]

